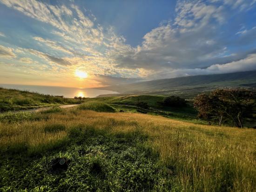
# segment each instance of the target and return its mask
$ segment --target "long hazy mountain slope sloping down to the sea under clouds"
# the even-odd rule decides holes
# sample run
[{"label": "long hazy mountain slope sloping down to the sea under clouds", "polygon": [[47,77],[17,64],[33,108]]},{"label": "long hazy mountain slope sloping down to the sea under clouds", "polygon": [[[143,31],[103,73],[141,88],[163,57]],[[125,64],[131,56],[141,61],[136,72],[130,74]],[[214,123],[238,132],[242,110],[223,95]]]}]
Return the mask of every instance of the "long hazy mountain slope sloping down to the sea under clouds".
[{"label": "long hazy mountain slope sloping down to the sea under clouds", "polygon": [[200,92],[222,87],[256,87],[256,71],[158,79],[129,85],[102,87],[102,89],[116,91],[121,95],[172,94],[192,99]]}]

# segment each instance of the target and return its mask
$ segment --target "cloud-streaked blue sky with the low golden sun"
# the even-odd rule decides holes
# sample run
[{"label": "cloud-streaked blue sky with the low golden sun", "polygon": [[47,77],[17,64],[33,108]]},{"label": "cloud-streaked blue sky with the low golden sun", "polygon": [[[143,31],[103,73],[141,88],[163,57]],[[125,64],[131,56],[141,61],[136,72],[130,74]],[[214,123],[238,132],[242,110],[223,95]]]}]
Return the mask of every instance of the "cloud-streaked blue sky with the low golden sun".
[{"label": "cloud-streaked blue sky with the low golden sun", "polygon": [[256,70],[256,0],[0,0],[0,83],[121,85]]}]

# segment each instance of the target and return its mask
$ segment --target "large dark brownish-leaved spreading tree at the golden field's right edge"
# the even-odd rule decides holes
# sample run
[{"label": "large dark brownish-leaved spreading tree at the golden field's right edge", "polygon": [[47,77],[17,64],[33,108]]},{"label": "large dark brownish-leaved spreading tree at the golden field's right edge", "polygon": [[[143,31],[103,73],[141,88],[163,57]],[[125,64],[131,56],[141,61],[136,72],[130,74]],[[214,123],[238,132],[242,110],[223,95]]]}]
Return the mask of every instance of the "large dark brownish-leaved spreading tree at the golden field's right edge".
[{"label": "large dark brownish-leaved spreading tree at the golden field's right edge", "polygon": [[216,89],[209,95],[200,94],[195,98],[198,116],[204,119],[226,118],[237,127],[243,127],[245,118],[252,116],[256,106],[256,93],[248,89]]}]

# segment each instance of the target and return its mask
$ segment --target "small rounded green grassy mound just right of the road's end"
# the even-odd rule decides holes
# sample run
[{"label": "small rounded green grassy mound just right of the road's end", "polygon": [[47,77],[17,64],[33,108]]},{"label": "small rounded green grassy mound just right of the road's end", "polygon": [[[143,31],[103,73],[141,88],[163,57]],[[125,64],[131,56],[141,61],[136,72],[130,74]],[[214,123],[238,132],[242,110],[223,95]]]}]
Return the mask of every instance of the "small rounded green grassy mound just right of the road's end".
[{"label": "small rounded green grassy mound just right of the road's end", "polygon": [[80,110],[92,110],[96,112],[115,112],[115,109],[112,106],[109,106],[106,103],[99,101],[87,101],[77,107]]}]

